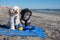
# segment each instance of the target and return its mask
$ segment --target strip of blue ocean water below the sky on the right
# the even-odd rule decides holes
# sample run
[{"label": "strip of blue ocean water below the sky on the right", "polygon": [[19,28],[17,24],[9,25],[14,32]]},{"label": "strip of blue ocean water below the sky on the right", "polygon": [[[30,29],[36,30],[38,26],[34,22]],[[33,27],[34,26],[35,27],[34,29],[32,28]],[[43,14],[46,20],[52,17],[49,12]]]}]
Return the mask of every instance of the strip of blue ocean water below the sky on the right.
[{"label": "strip of blue ocean water below the sky on the right", "polygon": [[32,12],[44,12],[50,14],[60,14],[60,9],[31,9]]}]

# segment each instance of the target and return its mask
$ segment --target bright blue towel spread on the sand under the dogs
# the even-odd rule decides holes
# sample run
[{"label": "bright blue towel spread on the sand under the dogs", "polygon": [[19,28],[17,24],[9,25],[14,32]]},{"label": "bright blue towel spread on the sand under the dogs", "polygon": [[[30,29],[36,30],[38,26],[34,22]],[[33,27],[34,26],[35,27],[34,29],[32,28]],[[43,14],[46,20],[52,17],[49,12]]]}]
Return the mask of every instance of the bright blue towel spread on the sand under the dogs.
[{"label": "bright blue towel spread on the sand under the dogs", "polygon": [[20,30],[11,30],[6,28],[0,29],[0,35],[6,36],[39,36],[41,38],[46,38],[46,33],[44,32],[43,28],[35,27],[34,30],[27,30],[27,31],[20,31]]}]

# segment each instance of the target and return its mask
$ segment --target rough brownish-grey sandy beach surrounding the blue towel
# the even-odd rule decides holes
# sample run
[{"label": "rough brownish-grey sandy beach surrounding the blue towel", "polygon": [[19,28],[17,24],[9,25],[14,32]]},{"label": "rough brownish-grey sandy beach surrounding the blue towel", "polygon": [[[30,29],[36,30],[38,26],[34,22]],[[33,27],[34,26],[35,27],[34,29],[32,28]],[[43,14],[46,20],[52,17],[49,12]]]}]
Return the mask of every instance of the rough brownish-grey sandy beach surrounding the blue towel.
[{"label": "rough brownish-grey sandy beach surrounding the blue towel", "polygon": [[[57,14],[48,14],[48,13],[38,13],[32,12],[31,16],[31,25],[36,27],[42,27],[46,34],[47,38],[45,40],[60,40],[60,15]],[[9,20],[9,15],[6,12],[0,13],[0,24],[7,24]],[[42,40],[40,37],[6,37],[0,36],[0,39],[22,39],[22,40]]]}]

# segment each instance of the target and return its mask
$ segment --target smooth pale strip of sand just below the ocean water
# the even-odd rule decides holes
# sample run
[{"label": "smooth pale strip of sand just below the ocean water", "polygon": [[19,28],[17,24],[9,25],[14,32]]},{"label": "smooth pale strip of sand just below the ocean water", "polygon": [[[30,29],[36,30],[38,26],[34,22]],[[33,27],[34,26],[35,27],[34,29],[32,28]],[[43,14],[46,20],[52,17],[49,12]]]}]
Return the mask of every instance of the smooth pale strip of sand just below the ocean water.
[{"label": "smooth pale strip of sand just below the ocean water", "polygon": [[39,12],[33,12],[34,16],[42,17],[47,20],[53,20],[53,21],[59,21],[60,15],[59,14],[50,14],[50,13],[39,13]]}]

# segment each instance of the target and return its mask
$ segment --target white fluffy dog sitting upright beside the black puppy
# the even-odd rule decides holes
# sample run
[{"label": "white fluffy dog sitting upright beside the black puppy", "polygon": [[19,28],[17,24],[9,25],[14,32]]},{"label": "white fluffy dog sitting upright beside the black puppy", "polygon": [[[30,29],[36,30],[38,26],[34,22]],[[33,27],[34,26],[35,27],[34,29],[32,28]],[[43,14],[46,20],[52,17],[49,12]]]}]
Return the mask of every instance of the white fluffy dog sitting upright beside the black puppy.
[{"label": "white fluffy dog sitting upright beside the black puppy", "polygon": [[[13,6],[10,10],[9,10],[9,22],[8,25],[11,27],[11,29],[15,30],[15,26],[17,26],[20,23],[20,8],[18,6]],[[14,22],[14,19],[15,22]]]}]

